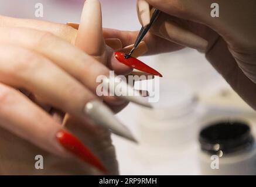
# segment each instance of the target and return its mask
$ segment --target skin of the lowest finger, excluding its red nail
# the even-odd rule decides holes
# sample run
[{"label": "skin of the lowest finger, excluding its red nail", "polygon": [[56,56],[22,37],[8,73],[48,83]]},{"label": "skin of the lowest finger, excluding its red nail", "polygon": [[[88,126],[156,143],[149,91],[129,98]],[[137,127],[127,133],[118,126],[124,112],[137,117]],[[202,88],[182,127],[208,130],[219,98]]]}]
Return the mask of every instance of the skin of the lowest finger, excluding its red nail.
[{"label": "skin of the lowest finger, excluding its red nail", "polygon": [[26,96],[15,89],[0,84],[0,90],[0,124],[2,127],[44,150],[67,156],[54,137],[60,130],[60,124],[54,122],[43,110],[33,105]]}]

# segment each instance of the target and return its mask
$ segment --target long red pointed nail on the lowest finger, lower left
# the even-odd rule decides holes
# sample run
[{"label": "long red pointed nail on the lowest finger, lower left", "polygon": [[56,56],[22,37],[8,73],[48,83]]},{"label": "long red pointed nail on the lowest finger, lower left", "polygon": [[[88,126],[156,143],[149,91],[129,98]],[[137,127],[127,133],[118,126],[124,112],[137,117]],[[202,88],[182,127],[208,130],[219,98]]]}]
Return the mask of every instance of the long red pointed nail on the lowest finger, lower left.
[{"label": "long red pointed nail on the lowest finger, lower left", "polygon": [[66,148],[67,151],[70,151],[81,160],[100,169],[100,171],[103,171],[104,173],[107,172],[107,169],[104,167],[101,161],[98,160],[98,158],[95,157],[95,155],[91,153],[91,151],[75,136],[65,130],[60,130],[57,132],[56,137],[57,140],[59,140],[59,143]]}]

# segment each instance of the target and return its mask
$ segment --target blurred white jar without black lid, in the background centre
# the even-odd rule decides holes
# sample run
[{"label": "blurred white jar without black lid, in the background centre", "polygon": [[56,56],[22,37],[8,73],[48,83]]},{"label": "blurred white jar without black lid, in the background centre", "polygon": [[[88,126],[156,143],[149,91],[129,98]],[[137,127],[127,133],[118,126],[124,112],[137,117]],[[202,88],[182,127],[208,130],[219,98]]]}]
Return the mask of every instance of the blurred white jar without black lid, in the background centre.
[{"label": "blurred white jar without black lid, in the background centre", "polygon": [[142,109],[141,112],[141,146],[172,150],[196,140],[199,113],[196,96],[189,86],[162,81],[159,102],[152,105],[153,110]]}]

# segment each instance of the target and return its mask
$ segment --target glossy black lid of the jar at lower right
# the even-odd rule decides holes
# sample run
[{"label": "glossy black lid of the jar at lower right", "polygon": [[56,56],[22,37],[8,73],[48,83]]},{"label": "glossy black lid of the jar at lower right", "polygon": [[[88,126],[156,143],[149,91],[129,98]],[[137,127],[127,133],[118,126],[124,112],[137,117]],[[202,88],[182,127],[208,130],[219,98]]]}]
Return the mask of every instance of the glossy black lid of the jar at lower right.
[{"label": "glossy black lid of the jar at lower right", "polygon": [[210,124],[200,131],[201,149],[222,156],[244,150],[254,143],[250,126],[240,121],[222,121]]}]

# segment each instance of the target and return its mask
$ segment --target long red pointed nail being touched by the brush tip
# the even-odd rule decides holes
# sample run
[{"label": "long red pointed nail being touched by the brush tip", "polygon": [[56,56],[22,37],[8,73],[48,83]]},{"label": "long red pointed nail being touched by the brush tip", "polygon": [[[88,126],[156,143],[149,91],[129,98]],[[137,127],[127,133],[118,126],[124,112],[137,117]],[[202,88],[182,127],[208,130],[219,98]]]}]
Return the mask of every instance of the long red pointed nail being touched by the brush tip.
[{"label": "long red pointed nail being touched by the brush tip", "polygon": [[149,67],[148,65],[142,63],[142,61],[138,60],[134,57],[125,58],[125,54],[121,52],[115,52],[115,58],[117,58],[120,63],[125,65],[129,65],[136,70],[148,72],[152,75],[158,75],[159,77],[163,77],[158,71],[154,70],[153,68]]}]

